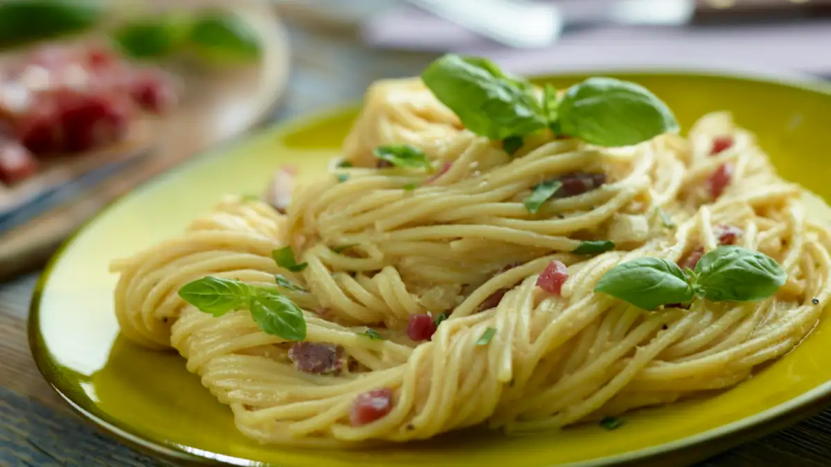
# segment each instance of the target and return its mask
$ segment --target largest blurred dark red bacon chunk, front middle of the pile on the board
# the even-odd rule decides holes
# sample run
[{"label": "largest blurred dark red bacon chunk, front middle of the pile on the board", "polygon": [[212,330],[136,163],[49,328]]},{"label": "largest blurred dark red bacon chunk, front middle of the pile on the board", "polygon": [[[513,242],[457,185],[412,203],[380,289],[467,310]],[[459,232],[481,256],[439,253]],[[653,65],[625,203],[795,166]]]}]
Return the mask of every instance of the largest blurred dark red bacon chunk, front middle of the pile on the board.
[{"label": "largest blurred dark red bacon chunk, front middle of the pile on the board", "polygon": [[97,149],[123,140],[132,107],[123,96],[61,92],[56,96],[66,152]]}]

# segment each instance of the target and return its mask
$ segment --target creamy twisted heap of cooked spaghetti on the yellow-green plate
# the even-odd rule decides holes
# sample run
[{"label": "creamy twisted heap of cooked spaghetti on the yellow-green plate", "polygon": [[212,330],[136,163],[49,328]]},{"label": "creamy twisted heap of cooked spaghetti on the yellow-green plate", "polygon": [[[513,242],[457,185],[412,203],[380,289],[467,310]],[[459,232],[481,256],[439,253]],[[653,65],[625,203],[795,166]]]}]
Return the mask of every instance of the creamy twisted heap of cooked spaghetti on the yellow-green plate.
[{"label": "creamy twisted heap of cooked spaghetti on the yellow-green plate", "polygon": [[[713,154],[725,137],[730,146]],[[376,168],[373,148],[401,142],[444,170]],[[230,197],[183,236],[113,265],[125,336],[179,351],[256,440],[404,441],[483,423],[556,429],[671,403],[745,380],[796,346],[829,302],[829,230],[724,113],[701,118],[687,138],[608,149],[538,135],[510,156],[465,130],[419,80],[384,81],[344,146],[352,167],[332,170],[350,178],[298,187],[286,214]],[[711,178],[726,165],[730,184],[713,199]],[[575,173],[605,179],[537,213],[524,207],[534,186]],[[684,263],[725,232],[787,273],[772,297],[645,312],[593,292],[616,264]],[[615,248],[568,253],[596,239]],[[307,268],[275,263],[286,246]],[[538,287],[554,260],[568,266],[559,294]],[[301,371],[296,344],[263,332],[248,310],[213,317],[177,294],[205,276],[275,288],[275,274],[299,286],[280,292],[302,308],[305,342],[344,359],[334,374]],[[411,317],[443,313],[429,340],[408,337]],[[356,400],[381,389],[389,409],[355,423]]]}]

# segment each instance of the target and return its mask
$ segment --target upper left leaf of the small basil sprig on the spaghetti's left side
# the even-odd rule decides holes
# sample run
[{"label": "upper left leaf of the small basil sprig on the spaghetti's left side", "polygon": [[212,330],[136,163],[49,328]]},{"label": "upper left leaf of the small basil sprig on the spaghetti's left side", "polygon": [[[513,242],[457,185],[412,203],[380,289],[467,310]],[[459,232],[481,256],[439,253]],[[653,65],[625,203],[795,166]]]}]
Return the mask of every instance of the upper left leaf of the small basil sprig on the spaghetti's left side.
[{"label": "upper left leaf of the small basil sprig on the spaghetti's left side", "polygon": [[220,317],[248,305],[253,290],[248,284],[233,279],[208,276],[179,288],[179,297],[205,312]]}]

